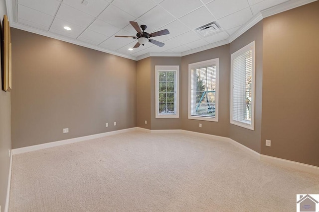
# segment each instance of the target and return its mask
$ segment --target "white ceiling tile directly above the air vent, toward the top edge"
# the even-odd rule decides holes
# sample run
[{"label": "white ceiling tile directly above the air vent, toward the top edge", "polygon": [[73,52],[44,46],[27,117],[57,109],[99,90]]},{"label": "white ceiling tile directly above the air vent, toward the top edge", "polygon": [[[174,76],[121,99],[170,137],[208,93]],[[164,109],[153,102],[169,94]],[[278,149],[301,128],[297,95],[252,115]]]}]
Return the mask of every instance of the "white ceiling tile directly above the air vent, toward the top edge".
[{"label": "white ceiling tile directly above the air vent, toward the top edge", "polygon": [[199,9],[179,18],[181,22],[186,24],[191,29],[195,29],[207,23],[214,21],[214,17],[208,12],[208,10],[202,6]]}]

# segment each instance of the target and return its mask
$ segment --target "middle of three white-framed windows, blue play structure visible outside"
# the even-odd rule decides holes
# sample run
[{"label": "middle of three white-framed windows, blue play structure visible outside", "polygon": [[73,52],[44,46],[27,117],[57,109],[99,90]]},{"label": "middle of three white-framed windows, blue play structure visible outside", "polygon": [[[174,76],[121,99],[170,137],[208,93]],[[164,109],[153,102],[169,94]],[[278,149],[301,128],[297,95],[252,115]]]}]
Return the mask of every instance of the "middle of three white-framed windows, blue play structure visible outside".
[{"label": "middle of three white-framed windows, blue play structure visible outside", "polygon": [[188,119],[218,122],[218,58],[188,65]]}]

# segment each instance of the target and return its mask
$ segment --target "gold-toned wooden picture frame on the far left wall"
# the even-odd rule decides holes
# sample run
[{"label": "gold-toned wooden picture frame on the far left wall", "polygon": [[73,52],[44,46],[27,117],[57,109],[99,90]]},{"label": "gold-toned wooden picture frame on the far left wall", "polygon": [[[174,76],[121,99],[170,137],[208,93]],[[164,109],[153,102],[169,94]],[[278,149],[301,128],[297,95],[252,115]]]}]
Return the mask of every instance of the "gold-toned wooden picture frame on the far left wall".
[{"label": "gold-toned wooden picture frame on the far left wall", "polygon": [[9,21],[6,15],[2,21],[2,90],[10,91],[12,87],[11,79],[11,33]]}]

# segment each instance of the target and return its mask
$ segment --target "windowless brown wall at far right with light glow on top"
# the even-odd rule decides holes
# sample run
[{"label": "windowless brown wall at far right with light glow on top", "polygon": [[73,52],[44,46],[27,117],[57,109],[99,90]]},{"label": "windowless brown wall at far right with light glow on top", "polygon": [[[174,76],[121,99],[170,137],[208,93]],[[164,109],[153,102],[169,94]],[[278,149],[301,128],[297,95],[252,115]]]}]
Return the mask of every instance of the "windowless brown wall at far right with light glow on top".
[{"label": "windowless brown wall at far right with light glow on top", "polygon": [[319,1],[265,18],[262,154],[319,166],[318,82]]}]

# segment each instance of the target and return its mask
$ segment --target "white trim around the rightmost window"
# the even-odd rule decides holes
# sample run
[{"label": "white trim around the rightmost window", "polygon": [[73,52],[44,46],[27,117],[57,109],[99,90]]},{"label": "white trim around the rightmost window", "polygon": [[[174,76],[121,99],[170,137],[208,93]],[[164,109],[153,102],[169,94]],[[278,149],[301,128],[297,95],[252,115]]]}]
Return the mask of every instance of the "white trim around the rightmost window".
[{"label": "white trim around the rightmost window", "polygon": [[[239,122],[233,120],[233,59],[238,55],[247,52],[248,50],[252,50],[252,109],[251,109],[251,124],[247,124],[244,122]],[[239,127],[247,128],[249,130],[255,130],[255,41],[250,44],[244,46],[240,50],[234,52],[230,56],[230,123],[233,125],[237,125]]]}]

